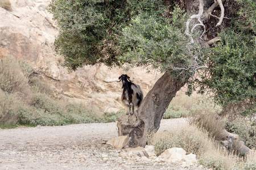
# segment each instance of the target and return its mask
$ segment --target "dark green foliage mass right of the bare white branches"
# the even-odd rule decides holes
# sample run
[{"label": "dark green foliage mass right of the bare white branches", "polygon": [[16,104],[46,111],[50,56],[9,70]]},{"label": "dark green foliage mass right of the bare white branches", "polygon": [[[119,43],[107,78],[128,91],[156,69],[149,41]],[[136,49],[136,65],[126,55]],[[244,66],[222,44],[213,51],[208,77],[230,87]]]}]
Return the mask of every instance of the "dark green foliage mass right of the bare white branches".
[{"label": "dark green foliage mass right of the bare white branches", "polygon": [[237,2],[241,6],[238,15],[218,35],[221,42],[214,44],[208,68],[197,82],[201,93],[210,90],[216,102],[229,112],[255,114],[256,2]]}]

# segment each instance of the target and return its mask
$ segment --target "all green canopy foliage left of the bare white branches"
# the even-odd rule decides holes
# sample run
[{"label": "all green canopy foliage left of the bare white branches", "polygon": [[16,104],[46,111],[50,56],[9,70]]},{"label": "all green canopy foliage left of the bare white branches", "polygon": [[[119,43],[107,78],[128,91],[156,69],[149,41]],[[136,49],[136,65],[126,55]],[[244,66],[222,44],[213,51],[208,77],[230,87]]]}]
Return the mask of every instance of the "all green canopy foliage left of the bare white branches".
[{"label": "all green canopy foliage left of the bare white branches", "polygon": [[203,65],[200,46],[187,47],[184,11],[168,11],[162,1],[55,0],[49,11],[60,28],[55,50],[70,70],[95,63],[152,64],[187,80],[193,66]]}]

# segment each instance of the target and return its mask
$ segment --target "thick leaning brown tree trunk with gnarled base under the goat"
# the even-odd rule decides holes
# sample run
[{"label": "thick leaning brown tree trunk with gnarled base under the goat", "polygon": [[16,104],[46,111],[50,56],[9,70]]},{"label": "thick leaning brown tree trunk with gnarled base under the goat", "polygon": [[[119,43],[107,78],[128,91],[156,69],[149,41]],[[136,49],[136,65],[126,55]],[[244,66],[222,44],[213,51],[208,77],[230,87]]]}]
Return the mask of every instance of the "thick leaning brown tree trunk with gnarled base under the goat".
[{"label": "thick leaning brown tree trunk with gnarled base under the goat", "polygon": [[184,86],[180,80],[172,78],[171,73],[164,75],[144,98],[141,107],[132,115],[123,115],[117,122],[118,136],[129,135],[129,147],[146,145],[147,134],[157,131],[161,118],[176,92]]}]

